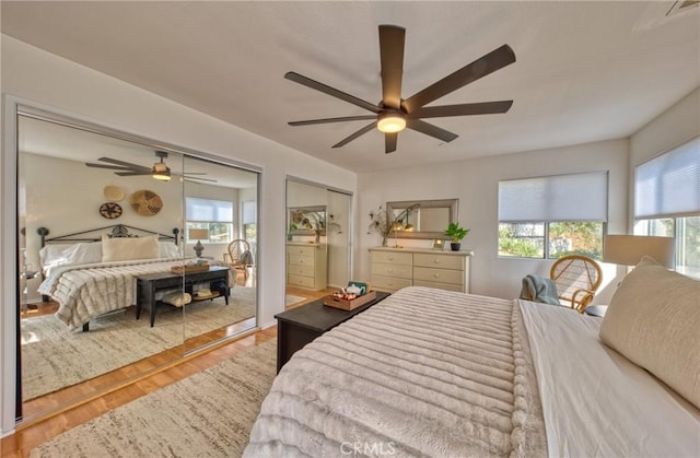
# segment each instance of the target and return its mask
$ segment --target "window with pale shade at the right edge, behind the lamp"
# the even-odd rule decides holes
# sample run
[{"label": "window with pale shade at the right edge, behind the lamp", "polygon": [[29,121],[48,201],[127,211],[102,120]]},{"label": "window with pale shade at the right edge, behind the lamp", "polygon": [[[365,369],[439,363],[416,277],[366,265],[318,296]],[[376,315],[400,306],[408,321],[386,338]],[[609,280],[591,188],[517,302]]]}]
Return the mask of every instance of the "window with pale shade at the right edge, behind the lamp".
[{"label": "window with pale shade at the right edge, behind the lamp", "polygon": [[676,237],[676,270],[700,279],[700,137],[637,167],[634,234]]}]

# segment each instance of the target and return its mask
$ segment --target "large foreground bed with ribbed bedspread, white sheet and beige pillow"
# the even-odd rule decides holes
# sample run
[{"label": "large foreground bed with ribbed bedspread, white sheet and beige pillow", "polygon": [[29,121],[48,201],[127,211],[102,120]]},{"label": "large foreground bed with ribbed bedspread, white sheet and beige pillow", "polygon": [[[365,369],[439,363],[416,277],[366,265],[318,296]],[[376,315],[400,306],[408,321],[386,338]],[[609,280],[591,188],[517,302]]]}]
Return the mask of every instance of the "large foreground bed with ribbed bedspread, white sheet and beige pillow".
[{"label": "large foreground bed with ribbed bedspread, white sheet and beige pillow", "polygon": [[400,290],[292,356],[244,456],[699,456],[699,285],[649,261],[603,319]]}]

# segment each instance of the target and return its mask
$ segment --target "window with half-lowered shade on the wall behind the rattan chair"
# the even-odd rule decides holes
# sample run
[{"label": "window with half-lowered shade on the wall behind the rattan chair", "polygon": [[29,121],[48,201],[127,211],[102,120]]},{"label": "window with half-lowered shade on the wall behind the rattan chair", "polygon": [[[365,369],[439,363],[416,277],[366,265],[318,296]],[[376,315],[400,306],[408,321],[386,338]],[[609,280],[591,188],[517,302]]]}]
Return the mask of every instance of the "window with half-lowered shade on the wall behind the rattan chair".
[{"label": "window with half-lowered shade on the wall behind the rattan chair", "polygon": [[607,172],[500,181],[499,256],[599,259],[607,189]]}]

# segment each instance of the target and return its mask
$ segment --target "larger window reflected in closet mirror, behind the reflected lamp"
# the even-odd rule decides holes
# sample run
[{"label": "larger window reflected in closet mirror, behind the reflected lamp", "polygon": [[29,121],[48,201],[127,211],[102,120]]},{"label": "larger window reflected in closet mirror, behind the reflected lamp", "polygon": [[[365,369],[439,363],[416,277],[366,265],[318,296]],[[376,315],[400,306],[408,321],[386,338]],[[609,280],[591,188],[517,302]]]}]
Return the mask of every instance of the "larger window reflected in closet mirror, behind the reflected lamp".
[{"label": "larger window reflected in closet mirror, behind the reflected lamp", "polygon": [[209,238],[200,240],[202,244],[228,244],[233,240],[233,202],[188,197],[185,198],[185,239],[188,243],[197,242],[190,240],[190,228],[209,230]]}]

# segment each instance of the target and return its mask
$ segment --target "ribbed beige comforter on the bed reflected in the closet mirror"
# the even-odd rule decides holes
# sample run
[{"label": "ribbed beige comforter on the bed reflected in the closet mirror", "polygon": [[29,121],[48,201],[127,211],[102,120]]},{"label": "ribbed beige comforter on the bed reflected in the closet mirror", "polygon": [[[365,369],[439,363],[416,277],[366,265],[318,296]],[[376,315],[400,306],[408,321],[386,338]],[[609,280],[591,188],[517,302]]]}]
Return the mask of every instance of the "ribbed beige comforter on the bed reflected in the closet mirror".
[{"label": "ribbed beige comforter on the bed reflected in the closet mirror", "polygon": [[38,291],[58,302],[56,317],[74,330],[94,317],[135,305],[137,275],[182,265],[183,259],[171,258],[60,266],[50,270]]}]

